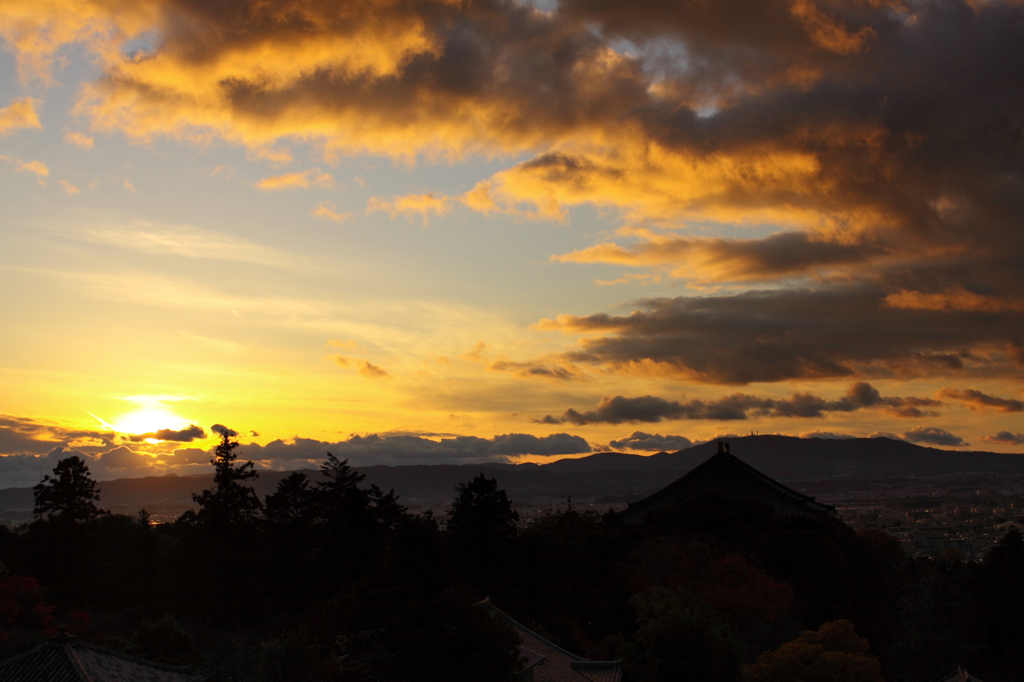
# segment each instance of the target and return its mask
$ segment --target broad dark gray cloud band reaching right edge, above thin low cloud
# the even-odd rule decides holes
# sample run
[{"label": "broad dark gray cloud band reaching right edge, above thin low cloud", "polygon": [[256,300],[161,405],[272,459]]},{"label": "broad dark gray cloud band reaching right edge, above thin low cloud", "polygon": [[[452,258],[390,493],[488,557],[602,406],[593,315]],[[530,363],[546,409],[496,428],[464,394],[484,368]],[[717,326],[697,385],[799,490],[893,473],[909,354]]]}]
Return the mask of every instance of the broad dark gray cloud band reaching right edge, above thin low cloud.
[{"label": "broad dark gray cloud band reaching right edge, above thin low cloud", "polygon": [[718,384],[855,375],[1021,374],[1017,311],[905,309],[869,287],[645,299],[628,315],[563,315],[573,363]]}]

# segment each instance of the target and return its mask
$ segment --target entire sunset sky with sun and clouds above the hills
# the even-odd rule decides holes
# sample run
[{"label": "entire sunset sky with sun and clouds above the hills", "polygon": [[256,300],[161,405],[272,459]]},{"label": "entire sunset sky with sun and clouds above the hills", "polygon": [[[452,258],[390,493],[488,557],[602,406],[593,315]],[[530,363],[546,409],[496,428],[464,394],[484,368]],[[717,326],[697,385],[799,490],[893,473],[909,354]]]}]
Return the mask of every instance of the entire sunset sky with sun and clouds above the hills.
[{"label": "entire sunset sky with sun and clouds above the hills", "polygon": [[1024,5],[0,0],[0,487],[1024,443]]}]

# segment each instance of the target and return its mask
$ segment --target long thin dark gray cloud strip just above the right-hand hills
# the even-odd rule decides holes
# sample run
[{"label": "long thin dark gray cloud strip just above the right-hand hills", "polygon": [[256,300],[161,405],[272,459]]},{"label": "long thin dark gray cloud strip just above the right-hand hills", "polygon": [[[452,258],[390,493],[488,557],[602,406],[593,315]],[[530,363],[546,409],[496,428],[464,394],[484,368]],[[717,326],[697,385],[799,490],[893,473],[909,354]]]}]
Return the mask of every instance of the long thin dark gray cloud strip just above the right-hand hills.
[{"label": "long thin dark gray cloud strip just above the right-hand hills", "polygon": [[826,413],[855,412],[881,408],[894,417],[911,418],[936,416],[923,407],[942,404],[933,398],[886,397],[865,382],[852,384],[847,394],[838,400],[811,393],[794,393],[787,398],[768,398],[745,393],[733,393],[717,400],[692,399],[685,402],[667,400],[653,395],[625,397],[615,395],[601,398],[596,410],[579,412],[566,410],[561,417],[546,415],[534,420],[541,424],[623,424],[657,423],[663,420],[703,419],[729,421],[751,417],[819,419]]}]

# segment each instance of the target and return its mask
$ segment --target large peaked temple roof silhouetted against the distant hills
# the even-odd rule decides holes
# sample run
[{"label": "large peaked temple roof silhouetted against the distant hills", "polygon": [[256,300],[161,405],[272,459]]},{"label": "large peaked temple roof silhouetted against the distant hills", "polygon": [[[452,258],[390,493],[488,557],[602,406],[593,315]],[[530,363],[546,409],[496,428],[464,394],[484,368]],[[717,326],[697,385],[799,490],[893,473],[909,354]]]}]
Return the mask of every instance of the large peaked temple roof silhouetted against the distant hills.
[{"label": "large peaked temple roof silhouetted against the distant hills", "polygon": [[626,523],[639,523],[650,511],[671,507],[677,502],[696,502],[720,498],[730,502],[760,502],[781,516],[835,517],[836,508],[786,487],[729,452],[729,443],[719,441],[718,454],[697,465],[689,473],[669,483],[657,493],[631,503],[620,512]]}]

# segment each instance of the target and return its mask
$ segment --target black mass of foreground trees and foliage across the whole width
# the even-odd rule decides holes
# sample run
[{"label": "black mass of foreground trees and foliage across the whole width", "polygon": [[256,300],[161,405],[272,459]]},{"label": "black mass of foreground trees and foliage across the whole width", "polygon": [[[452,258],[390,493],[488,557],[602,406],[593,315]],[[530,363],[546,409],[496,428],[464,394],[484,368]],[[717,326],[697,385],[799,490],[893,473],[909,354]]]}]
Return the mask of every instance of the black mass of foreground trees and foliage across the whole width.
[{"label": "black mass of foreground trees and foliage across the whole width", "polygon": [[714,499],[640,526],[567,505],[522,527],[482,473],[453,492],[441,530],[330,454],[321,476],[259,500],[234,445],[218,446],[197,510],[162,525],[101,513],[84,463],[61,463],[38,492],[42,518],[0,527],[0,659],[63,623],[236,682],[512,682],[518,640],[486,597],[566,649],[622,658],[629,682],[1024,671],[1016,531],[966,562]]}]

